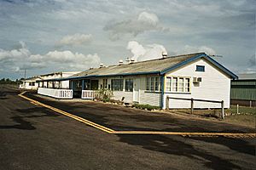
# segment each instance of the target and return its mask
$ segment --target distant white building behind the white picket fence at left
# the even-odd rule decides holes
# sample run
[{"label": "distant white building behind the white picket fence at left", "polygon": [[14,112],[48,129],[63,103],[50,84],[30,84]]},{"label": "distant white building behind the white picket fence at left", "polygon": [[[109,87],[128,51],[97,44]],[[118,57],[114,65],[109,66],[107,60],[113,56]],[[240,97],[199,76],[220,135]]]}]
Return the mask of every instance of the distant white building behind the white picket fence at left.
[{"label": "distant white building behind the white picket fence at left", "polygon": [[[38,89],[38,81],[48,80],[53,78],[63,78],[63,77],[70,77],[74,74],[79,73],[79,71],[68,71],[68,72],[53,72],[49,74],[39,75],[36,77],[26,78],[22,80],[22,84],[20,84],[19,88],[24,89]],[[42,82],[41,82],[42,83]],[[40,84],[43,86],[43,84]],[[58,84],[60,88],[69,88],[69,81],[62,81],[61,84]],[[49,83],[49,87],[52,87],[52,84]],[[44,84],[44,88],[47,88],[47,84]]]}]

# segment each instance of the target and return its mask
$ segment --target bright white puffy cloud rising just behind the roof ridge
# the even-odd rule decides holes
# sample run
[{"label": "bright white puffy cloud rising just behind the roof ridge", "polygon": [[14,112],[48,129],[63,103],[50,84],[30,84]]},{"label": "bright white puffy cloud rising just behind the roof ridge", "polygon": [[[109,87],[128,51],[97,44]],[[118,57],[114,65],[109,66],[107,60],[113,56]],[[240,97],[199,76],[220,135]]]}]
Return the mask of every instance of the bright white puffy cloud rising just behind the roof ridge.
[{"label": "bright white puffy cloud rising just behind the roof ridge", "polygon": [[136,41],[128,42],[127,49],[133,54],[133,59],[143,61],[148,59],[159,59],[163,53],[167,53],[166,48],[160,44],[148,44],[143,47],[142,44]]}]

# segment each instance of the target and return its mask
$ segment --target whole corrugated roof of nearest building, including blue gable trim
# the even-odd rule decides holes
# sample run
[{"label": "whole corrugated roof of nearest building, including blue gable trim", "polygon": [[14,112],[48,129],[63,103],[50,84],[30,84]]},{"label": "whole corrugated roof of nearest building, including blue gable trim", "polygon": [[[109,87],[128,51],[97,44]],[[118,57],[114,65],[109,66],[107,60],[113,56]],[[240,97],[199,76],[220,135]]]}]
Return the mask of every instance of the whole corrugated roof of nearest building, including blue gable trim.
[{"label": "whole corrugated roof of nearest building, including blue gable trim", "polygon": [[213,65],[216,65],[221,71],[224,71],[224,73],[230,75],[230,77],[237,78],[237,76],[234,73],[226,69],[223,65],[220,65],[217,61],[209,57],[207,54],[195,53],[170,56],[162,59],[151,59],[131,64],[109,65],[102,68],[93,68],[86,71],[82,71],[78,74],[74,74],[71,77],[55,78],[46,81],[65,81],[72,79],[83,79],[88,77],[111,77],[146,74],[163,75],[168,71],[172,71],[174,69],[177,69],[178,67],[187,65],[188,63],[200,58],[207,59]]}]

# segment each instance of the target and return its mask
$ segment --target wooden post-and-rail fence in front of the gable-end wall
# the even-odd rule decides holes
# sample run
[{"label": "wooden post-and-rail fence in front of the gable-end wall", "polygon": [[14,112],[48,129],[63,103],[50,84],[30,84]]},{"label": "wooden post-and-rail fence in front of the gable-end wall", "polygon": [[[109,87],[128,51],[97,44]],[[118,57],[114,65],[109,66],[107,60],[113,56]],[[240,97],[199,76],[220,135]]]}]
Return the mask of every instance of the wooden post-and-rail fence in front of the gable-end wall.
[{"label": "wooden post-and-rail fence in front of the gable-end wall", "polygon": [[194,102],[195,101],[202,101],[202,102],[211,102],[211,103],[220,103],[221,104],[221,117],[224,119],[224,100],[217,101],[217,100],[209,100],[209,99],[185,99],[185,98],[173,98],[173,97],[166,97],[166,109],[169,109],[169,99],[182,99],[182,100],[190,100],[191,101],[191,114],[193,114],[194,111]]}]

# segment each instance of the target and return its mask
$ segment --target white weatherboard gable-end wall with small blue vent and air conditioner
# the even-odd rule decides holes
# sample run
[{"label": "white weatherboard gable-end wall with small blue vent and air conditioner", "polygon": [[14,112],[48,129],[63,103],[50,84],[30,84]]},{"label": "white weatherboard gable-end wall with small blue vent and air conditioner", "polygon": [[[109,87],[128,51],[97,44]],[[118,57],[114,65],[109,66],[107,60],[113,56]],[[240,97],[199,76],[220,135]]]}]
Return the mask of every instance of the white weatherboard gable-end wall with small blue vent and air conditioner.
[{"label": "white weatherboard gable-end wall with small blue vent and air conditioner", "polygon": [[[196,65],[205,65],[205,71],[195,71]],[[166,97],[187,98],[187,99],[209,99],[224,100],[224,107],[230,107],[230,77],[227,77],[222,71],[212,66],[207,60],[199,59],[189,65],[185,65],[176,71],[166,74],[166,77],[191,77],[191,92],[189,94],[164,94],[164,107],[166,106]],[[198,85],[193,83],[193,77],[201,77],[202,82]],[[170,99],[169,108],[189,108],[190,101]],[[220,108],[220,104],[197,102],[195,108]]]}]

